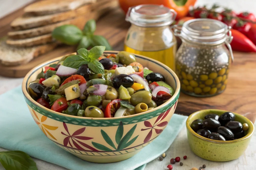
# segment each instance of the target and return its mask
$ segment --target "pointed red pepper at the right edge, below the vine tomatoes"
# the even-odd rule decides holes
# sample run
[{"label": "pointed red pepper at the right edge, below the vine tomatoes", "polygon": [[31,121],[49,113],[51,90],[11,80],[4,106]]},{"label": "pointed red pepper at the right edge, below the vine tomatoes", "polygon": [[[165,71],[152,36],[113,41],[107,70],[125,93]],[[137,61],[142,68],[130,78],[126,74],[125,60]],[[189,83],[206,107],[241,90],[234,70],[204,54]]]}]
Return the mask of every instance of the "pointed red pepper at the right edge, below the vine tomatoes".
[{"label": "pointed red pepper at the right edge, below the vine tomatoes", "polygon": [[256,46],[241,32],[231,29],[233,40],[230,43],[232,50],[242,52],[256,52]]}]

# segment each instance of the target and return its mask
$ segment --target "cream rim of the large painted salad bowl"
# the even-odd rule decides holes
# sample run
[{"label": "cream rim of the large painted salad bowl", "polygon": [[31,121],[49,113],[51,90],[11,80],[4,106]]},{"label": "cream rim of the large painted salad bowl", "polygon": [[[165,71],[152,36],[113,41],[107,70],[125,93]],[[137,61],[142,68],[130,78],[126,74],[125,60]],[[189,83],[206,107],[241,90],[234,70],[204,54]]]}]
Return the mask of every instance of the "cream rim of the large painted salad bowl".
[{"label": "cream rim of the large painted salad bowl", "polygon": [[[119,51],[104,51],[104,54],[117,54]],[[165,64],[159,62],[159,61],[156,61],[154,59],[151,59],[151,58],[148,58],[148,57],[145,57],[145,56],[142,56],[142,55],[137,55],[137,54],[134,54],[135,57],[138,57],[138,58],[141,58],[141,59],[144,59],[144,60],[148,60],[149,62],[153,62],[159,66],[161,66],[163,69],[165,69],[170,75],[173,76],[174,80],[175,80],[175,84],[176,84],[176,90],[175,90],[175,93],[174,95],[172,96],[172,98],[170,98],[168,101],[166,101],[164,104],[152,109],[152,110],[149,110],[149,111],[146,111],[146,112],[143,112],[143,113],[139,113],[139,114],[134,114],[134,115],[129,115],[129,116],[123,116],[123,117],[112,117],[112,118],[90,118],[90,117],[78,117],[78,116],[73,116],[73,115],[67,115],[67,114],[63,114],[63,113],[59,113],[59,112],[55,112],[55,111],[52,111],[44,106],[41,106],[39,103],[37,103],[34,99],[32,99],[30,97],[30,95],[28,94],[28,91],[27,91],[27,84],[29,83],[28,80],[29,78],[31,77],[32,74],[34,74],[34,72],[36,72],[37,70],[41,69],[42,67],[44,66],[47,66],[49,65],[50,63],[53,63],[53,62],[56,62],[58,61],[61,57],[57,57],[57,58],[54,58],[54,59],[51,59],[51,60],[48,60],[44,63],[41,63],[39,64],[38,66],[34,67],[33,69],[31,69],[27,75],[24,77],[24,80],[22,82],[22,91],[23,91],[23,94],[24,94],[24,97],[25,97],[25,100],[27,102],[27,104],[32,108],[34,109],[35,111],[47,116],[47,117],[50,117],[52,118],[52,115],[55,115],[57,116],[57,120],[59,120],[60,118],[59,117],[66,117],[67,119],[70,118],[75,118],[76,120],[81,120],[81,121],[104,121],[104,122],[108,122],[109,120],[116,120],[116,121],[124,121],[125,120],[128,120],[130,118],[134,118],[134,117],[141,117],[143,119],[143,121],[145,120],[145,115],[148,113],[155,113],[154,115],[157,116],[158,114],[160,114],[159,112],[165,112],[167,111],[169,108],[171,108],[174,104],[175,104],[175,107],[176,107],[176,104],[177,104],[177,100],[178,100],[178,97],[179,97],[179,94],[180,94],[180,83],[179,83],[179,79],[178,79],[178,76],[174,73],[173,70],[171,70],[168,66],[166,66]],[[162,110],[162,111],[161,111]],[[44,111],[47,111],[48,113],[51,113],[50,114],[47,114],[47,112],[45,113]],[[153,116],[153,117],[155,117]],[[151,119],[152,116],[148,117],[148,119]],[[62,121],[62,120],[59,120],[59,121]],[[70,123],[70,122],[67,122],[67,123]],[[131,123],[136,123],[136,122],[131,122]],[[72,123],[73,124],[73,123]],[[77,123],[74,123],[74,124],[77,124]],[[130,123],[128,123],[130,124]],[[88,125],[87,125],[88,126]],[[92,125],[94,126],[94,125]],[[113,125],[112,125],[113,126]]]}]

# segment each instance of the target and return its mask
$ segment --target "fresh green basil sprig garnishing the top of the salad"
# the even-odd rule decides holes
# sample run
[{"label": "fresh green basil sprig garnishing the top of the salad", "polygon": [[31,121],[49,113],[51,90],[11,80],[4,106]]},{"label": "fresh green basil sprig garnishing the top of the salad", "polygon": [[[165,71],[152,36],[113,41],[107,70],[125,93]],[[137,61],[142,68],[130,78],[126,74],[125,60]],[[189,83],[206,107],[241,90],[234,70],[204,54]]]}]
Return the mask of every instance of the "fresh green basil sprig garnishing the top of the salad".
[{"label": "fresh green basil sprig garnishing the top of the salad", "polygon": [[88,67],[98,74],[104,74],[104,67],[97,61],[97,59],[103,54],[105,50],[104,46],[92,47],[90,51],[86,48],[77,50],[78,55],[69,56],[63,62],[63,66],[71,68],[79,68],[83,64],[88,64]]}]

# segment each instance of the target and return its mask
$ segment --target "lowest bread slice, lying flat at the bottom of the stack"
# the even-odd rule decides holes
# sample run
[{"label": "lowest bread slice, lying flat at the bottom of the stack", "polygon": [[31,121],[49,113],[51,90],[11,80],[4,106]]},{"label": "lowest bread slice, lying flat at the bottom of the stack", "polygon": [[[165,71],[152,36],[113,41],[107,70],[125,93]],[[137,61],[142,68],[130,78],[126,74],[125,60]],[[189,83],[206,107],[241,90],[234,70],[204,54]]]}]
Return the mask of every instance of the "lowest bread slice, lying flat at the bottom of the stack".
[{"label": "lowest bread slice, lying flat at the bottom of the stack", "polygon": [[25,64],[33,58],[54,49],[57,45],[57,42],[53,42],[40,46],[17,48],[9,46],[5,43],[5,40],[1,40],[0,63],[5,66],[17,66],[20,64]]}]

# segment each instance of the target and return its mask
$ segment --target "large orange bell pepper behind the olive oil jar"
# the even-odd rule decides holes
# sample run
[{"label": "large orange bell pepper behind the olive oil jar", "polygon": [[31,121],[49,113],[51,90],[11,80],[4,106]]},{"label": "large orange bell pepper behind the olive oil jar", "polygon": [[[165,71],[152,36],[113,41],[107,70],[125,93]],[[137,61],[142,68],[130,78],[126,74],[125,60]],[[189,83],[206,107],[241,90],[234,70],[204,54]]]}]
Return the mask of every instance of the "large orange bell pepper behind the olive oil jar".
[{"label": "large orange bell pepper behind the olive oil jar", "polygon": [[141,4],[164,5],[177,12],[176,20],[185,17],[189,12],[189,6],[194,6],[196,0],[119,0],[120,7],[126,13],[129,7]]}]

